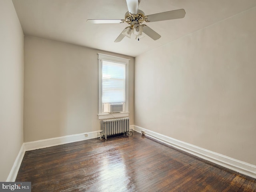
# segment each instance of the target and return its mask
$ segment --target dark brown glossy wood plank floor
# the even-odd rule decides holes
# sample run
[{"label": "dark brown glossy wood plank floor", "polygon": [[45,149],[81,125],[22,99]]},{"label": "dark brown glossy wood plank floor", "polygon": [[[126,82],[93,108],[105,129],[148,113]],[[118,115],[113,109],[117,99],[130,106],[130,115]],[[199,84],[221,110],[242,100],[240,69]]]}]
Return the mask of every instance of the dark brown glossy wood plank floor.
[{"label": "dark brown glossy wood plank floor", "polygon": [[32,192],[256,192],[256,179],[136,132],[28,151],[16,181]]}]

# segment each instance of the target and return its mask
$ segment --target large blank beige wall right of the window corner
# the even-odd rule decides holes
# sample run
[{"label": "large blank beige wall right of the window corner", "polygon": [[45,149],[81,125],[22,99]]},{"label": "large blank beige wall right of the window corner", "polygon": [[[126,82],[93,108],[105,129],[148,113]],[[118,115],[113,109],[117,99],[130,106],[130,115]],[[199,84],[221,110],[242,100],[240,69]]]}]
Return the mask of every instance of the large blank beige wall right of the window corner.
[{"label": "large blank beige wall right of the window corner", "polygon": [[256,165],[255,18],[252,8],[136,57],[134,124]]}]

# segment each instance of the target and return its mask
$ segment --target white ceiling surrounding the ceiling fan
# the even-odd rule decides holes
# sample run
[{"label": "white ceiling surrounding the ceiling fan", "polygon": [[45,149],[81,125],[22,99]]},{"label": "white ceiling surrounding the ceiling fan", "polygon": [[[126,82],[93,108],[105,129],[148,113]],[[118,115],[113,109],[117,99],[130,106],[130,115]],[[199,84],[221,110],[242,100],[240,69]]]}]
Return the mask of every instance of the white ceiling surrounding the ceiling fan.
[{"label": "white ceiling surrounding the ceiling fan", "polygon": [[126,0],[12,0],[24,35],[138,56],[256,6],[256,0],[141,0],[146,15],[184,8],[185,18],[146,23],[162,37],[114,40],[128,24],[90,24],[124,19]]}]

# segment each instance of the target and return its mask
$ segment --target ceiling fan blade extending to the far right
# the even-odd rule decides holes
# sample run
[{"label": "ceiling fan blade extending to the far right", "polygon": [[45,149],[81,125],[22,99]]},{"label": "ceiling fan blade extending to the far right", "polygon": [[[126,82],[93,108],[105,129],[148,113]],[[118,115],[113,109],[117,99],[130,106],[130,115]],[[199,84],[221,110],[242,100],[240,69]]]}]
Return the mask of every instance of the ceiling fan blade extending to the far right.
[{"label": "ceiling fan blade extending to the far right", "polygon": [[178,9],[178,10],[148,15],[146,17],[148,19],[148,22],[155,22],[155,21],[164,21],[164,20],[184,18],[185,14],[186,14],[186,12],[184,9]]}]

